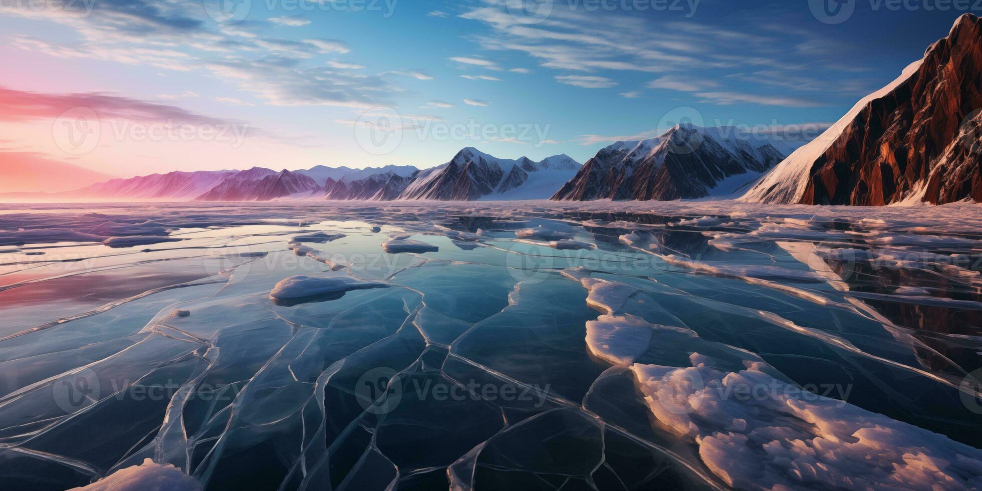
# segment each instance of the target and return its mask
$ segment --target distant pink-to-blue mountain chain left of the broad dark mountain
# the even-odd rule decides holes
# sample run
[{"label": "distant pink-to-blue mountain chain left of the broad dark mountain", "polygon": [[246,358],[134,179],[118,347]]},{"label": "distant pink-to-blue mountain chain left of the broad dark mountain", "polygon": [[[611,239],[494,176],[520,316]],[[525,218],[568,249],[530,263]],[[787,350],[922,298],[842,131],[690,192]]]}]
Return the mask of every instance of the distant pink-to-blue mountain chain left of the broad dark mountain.
[{"label": "distant pink-to-blue mountain chain left of the broad dark mountain", "polygon": [[540,162],[502,159],[462,149],[430,169],[411,166],[352,169],[316,166],[299,171],[253,167],[244,171],[170,172],[113,179],[76,191],[17,192],[0,197],[52,200],[269,201],[274,199],[545,199],[580,164],[566,155]]}]

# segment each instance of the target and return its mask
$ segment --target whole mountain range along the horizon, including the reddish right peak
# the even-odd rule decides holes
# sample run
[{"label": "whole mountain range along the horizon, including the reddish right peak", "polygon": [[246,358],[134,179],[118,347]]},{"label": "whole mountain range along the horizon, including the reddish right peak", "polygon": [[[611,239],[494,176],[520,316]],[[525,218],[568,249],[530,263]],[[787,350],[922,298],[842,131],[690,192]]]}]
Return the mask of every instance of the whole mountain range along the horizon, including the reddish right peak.
[{"label": "whole mountain range along the horizon, including the reddish right peak", "polygon": [[113,179],[0,199],[723,199],[778,204],[982,202],[982,21],[961,16],[900,77],[800,144],[735,127],[682,124],[618,141],[580,165],[466,147],[428,168],[200,171]]}]

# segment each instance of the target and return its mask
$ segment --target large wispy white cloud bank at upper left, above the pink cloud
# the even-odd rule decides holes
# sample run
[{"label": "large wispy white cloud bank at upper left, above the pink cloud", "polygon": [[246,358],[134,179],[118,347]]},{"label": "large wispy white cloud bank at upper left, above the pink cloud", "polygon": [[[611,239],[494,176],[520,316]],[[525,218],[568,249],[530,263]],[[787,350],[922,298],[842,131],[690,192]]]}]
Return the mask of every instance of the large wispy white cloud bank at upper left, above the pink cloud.
[{"label": "large wispy white cloud bank at upper left, above the pink cloud", "polygon": [[[51,9],[34,17],[71,27],[81,39],[53,44],[15,34],[11,37],[14,46],[60,58],[148,65],[171,71],[204,69],[272,105],[360,109],[392,104],[389,97],[401,91],[379,76],[352,72],[364,68],[363,65],[315,60],[322,55],[350,53],[351,45],[342,39],[288,39],[262,34],[263,29],[275,25],[300,25],[304,21],[301,16],[221,26],[210,20],[203,22],[207,17],[200,4],[191,5],[183,0],[110,0],[97,2],[88,18],[60,15]],[[409,76],[428,77],[421,73]],[[239,94],[228,96],[246,100]]]}]

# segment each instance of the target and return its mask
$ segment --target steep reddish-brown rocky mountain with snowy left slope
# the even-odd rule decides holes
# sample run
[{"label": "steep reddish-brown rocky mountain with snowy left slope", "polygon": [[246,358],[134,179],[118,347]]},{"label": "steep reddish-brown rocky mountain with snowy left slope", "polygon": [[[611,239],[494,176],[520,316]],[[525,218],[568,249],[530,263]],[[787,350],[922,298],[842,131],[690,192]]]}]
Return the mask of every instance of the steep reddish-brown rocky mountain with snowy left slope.
[{"label": "steep reddish-brown rocky mountain with snowy left slope", "polygon": [[740,199],[884,205],[982,201],[982,23],[961,16],[896,81]]}]

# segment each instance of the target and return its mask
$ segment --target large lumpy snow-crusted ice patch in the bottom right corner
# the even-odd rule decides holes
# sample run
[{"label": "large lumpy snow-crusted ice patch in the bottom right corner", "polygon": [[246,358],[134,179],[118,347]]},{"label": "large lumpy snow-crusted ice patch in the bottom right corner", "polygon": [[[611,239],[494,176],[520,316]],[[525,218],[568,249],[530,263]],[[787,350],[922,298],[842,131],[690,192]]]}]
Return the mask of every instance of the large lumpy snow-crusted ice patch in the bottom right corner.
[{"label": "large lumpy snow-crusted ice patch in the bottom right corner", "polygon": [[982,451],[802,392],[761,371],[728,372],[702,355],[686,368],[631,366],[657,420],[699,446],[740,489],[978,489]]}]

